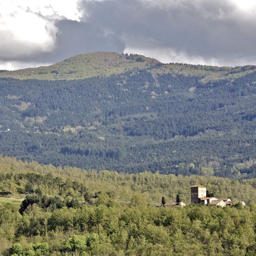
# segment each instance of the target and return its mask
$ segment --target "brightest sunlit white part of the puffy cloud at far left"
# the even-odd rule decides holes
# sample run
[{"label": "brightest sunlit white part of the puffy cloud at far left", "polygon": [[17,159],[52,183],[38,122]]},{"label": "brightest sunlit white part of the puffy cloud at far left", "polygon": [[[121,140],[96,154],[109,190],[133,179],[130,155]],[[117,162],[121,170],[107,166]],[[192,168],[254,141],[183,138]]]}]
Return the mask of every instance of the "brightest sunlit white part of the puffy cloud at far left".
[{"label": "brightest sunlit white part of the puffy cloud at far left", "polygon": [[[0,41],[1,52],[3,48],[9,48],[9,44],[33,44],[35,49],[49,51],[54,46],[54,37],[57,28],[52,21],[46,20],[35,13],[24,10],[21,6],[14,7],[14,3],[1,3]],[[8,37],[3,35],[8,34]],[[13,48],[15,52],[17,48]],[[29,49],[24,54],[27,54]]]}]

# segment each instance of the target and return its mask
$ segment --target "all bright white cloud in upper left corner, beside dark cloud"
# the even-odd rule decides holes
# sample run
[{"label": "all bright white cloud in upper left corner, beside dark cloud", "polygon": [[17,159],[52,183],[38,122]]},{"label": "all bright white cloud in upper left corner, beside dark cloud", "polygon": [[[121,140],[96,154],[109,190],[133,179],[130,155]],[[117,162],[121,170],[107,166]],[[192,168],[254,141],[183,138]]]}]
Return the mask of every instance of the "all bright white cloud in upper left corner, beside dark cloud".
[{"label": "all bright white cloud in upper left corner, beside dark cloud", "polygon": [[[79,21],[79,16],[77,1],[1,0],[0,60],[25,63],[42,52],[53,51],[59,32],[55,21]],[[6,67],[9,65],[6,62]]]}]

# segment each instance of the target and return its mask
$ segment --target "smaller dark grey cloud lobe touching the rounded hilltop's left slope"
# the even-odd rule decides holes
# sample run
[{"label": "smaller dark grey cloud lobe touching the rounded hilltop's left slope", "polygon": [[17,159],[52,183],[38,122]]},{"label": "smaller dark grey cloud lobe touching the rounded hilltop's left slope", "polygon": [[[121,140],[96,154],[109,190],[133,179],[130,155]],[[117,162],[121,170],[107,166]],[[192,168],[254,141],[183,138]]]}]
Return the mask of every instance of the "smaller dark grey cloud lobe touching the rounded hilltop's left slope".
[{"label": "smaller dark grey cloud lobe touching the rounded hilltop's left slope", "polygon": [[59,32],[56,35],[54,51],[39,56],[45,62],[57,62],[74,55],[95,51],[122,53],[125,49],[120,37],[115,34],[106,35],[99,26],[90,23],[58,20],[55,26]]}]

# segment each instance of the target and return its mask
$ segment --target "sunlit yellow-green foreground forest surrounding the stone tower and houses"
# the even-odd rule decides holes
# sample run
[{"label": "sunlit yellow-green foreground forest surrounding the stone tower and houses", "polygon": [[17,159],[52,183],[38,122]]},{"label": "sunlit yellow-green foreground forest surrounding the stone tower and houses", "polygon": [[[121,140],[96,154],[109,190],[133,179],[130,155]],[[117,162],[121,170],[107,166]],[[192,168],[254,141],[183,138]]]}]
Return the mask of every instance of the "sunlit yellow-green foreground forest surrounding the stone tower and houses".
[{"label": "sunlit yellow-green foreground forest surrounding the stone tower and houses", "polygon": [[[24,197],[20,205],[0,198],[1,256],[256,253],[256,179],[62,169],[10,157],[0,157],[0,170],[1,190]],[[156,207],[177,193],[189,204],[196,183],[234,206]]]}]

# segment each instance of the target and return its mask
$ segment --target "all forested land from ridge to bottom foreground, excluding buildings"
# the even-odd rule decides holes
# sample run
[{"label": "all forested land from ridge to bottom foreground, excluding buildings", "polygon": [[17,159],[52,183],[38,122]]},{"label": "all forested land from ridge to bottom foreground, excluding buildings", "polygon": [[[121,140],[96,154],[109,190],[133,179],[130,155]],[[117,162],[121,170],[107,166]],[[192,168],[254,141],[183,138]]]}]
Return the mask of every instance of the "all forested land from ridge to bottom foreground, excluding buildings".
[{"label": "all forested land from ridge to bottom foreground, excluding buildings", "polygon": [[255,66],[98,52],[0,87],[1,256],[256,254]]}]

